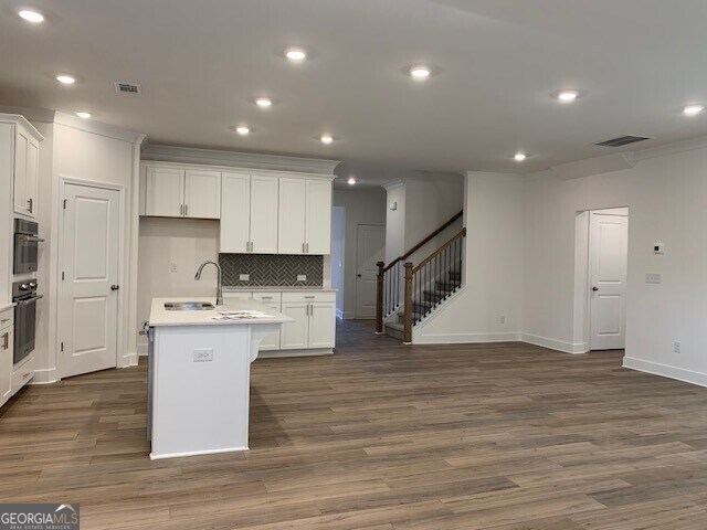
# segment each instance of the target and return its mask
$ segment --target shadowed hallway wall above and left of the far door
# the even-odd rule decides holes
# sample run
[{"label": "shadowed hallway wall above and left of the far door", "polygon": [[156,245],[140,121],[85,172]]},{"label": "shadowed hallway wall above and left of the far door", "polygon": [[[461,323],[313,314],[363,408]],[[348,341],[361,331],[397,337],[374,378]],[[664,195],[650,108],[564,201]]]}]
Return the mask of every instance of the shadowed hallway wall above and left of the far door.
[{"label": "shadowed hallway wall above and left of the far door", "polygon": [[[344,248],[344,288],[341,311],[344,318],[356,315],[356,258],[359,224],[386,224],[386,191],[382,188],[334,190],[334,205],[346,210]],[[333,266],[336,266],[333,256]],[[325,264],[326,268],[326,264]],[[338,308],[337,298],[337,308]]]}]

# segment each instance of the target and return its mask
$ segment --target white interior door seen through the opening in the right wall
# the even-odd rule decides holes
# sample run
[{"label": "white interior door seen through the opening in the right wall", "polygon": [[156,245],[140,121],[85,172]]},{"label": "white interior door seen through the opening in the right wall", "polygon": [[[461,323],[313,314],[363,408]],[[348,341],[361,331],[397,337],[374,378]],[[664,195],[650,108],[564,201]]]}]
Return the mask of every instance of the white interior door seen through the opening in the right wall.
[{"label": "white interior door seen through the opening in the right wall", "polygon": [[625,347],[629,218],[591,212],[589,227],[591,350]]}]

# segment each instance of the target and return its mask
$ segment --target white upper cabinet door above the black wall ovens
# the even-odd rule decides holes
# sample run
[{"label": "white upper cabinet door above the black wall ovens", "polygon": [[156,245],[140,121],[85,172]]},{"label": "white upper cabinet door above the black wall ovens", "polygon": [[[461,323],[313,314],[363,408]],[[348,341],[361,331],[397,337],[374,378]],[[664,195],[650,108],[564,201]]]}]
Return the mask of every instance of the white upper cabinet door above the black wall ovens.
[{"label": "white upper cabinet door above the black wall ovens", "polygon": [[14,213],[36,216],[39,169],[39,140],[18,125],[14,149]]}]

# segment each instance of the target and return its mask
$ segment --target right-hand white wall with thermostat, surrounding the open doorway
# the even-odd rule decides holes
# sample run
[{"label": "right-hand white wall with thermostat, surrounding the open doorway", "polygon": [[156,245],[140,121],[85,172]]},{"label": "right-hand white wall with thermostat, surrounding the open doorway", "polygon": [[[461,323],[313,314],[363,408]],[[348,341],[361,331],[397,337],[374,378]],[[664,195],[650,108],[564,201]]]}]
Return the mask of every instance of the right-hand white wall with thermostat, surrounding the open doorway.
[{"label": "right-hand white wall with thermostat, surrounding the open doorway", "polygon": [[[525,182],[523,338],[577,351],[576,218],[629,206],[624,364],[707,385],[707,148],[644,157],[626,170]],[[653,244],[665,243],[665,254]],[[662,284],[646,284],[646,273]],[[674,353],[680,342],[680,353]]]}]

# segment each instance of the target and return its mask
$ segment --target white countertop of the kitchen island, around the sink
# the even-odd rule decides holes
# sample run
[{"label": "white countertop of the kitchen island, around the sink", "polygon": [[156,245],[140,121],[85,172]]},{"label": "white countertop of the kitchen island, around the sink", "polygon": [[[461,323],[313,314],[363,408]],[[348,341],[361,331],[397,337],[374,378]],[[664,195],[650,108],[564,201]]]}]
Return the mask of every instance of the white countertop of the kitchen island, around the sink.
[{"label": "white countertop of the kitchen island, around the sink", "polygon": [[[150,326],[243,326],[258,324],[285,324],[294,319],[255,300],[226,300],[223,306],[205,311],[168,311],[166,301],[209,301],[215,306],[217,299],[210,296],[183,296],[179,298],[152,298]],[[260,311],[264,318],[246,318],[242,320],[214,320],[219,311]]]}]

